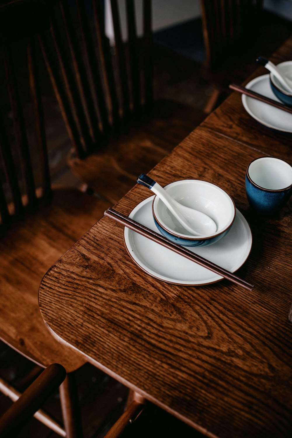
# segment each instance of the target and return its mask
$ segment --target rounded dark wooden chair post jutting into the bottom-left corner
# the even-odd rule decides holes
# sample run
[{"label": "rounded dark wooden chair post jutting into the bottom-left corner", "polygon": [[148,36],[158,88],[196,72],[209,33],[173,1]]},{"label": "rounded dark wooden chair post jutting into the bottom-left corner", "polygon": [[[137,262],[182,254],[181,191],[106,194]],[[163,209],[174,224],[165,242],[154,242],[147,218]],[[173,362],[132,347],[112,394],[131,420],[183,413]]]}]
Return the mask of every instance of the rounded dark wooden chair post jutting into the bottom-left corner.
[{"label": "rounded dark wooden chair post jutting into the bottom-left corner", "polygon": [[0,438],[16,436],[35,413],[42,415],[40,407],[59,388],[65,377],[66,370],[60,364],[51,364],[42,371],[0,418]]}]

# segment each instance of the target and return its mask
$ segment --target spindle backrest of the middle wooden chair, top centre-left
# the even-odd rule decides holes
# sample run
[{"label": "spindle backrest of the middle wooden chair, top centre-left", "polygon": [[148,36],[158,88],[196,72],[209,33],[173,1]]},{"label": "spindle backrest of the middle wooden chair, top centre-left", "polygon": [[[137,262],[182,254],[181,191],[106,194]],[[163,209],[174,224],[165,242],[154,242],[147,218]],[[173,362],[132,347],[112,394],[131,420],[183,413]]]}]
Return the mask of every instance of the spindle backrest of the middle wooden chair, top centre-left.
[{"label": "spindle backrest of the middle wooden chair, top centre-left", "polygon": [[[126,0],[127,42],[117,0],[110,0],[114,46],[102,0],[48,4],[49,34],[39,35],[47,69],[76,155],[102,146],[109,133],[152,100],[151,0],[143,0],[137,37],[134,0]],[[52,50],[53,47],[53,50]]]}]

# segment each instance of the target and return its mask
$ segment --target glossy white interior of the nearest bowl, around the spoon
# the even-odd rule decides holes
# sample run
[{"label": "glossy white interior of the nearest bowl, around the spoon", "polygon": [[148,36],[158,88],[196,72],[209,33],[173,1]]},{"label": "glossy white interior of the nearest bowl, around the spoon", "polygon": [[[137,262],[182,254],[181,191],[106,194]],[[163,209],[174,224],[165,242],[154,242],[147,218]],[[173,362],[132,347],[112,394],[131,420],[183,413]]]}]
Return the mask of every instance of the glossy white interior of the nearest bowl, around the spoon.
[{"label": "glossy white interior of the nearest bowl, around the spoon", "polygon": [[[164,188],[180,204],[205,213],[214,220],[216,233],[204,238],[222,233],[234,220],[236,210],[232,198],[215,184],[202,180],[181,180]],[[157,196],[153,201],[153,213],[157,222],[170,233],[181,237],[191,236]],[[197,239],[202,239],[202,236]]]}]

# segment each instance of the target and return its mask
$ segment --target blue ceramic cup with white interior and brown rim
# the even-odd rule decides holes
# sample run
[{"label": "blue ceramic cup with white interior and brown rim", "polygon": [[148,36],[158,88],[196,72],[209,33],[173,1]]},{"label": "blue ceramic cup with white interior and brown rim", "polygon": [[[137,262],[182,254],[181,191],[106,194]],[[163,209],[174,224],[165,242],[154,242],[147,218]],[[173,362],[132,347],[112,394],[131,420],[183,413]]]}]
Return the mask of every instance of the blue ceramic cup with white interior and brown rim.
[{"label": "blue ceramic cup with white interior and brown rim", "polygon": [[257,158],[247,166],[245,184],[250,206],[260,215],[274,215],[292,194],[292,167],[278,158]]}]

